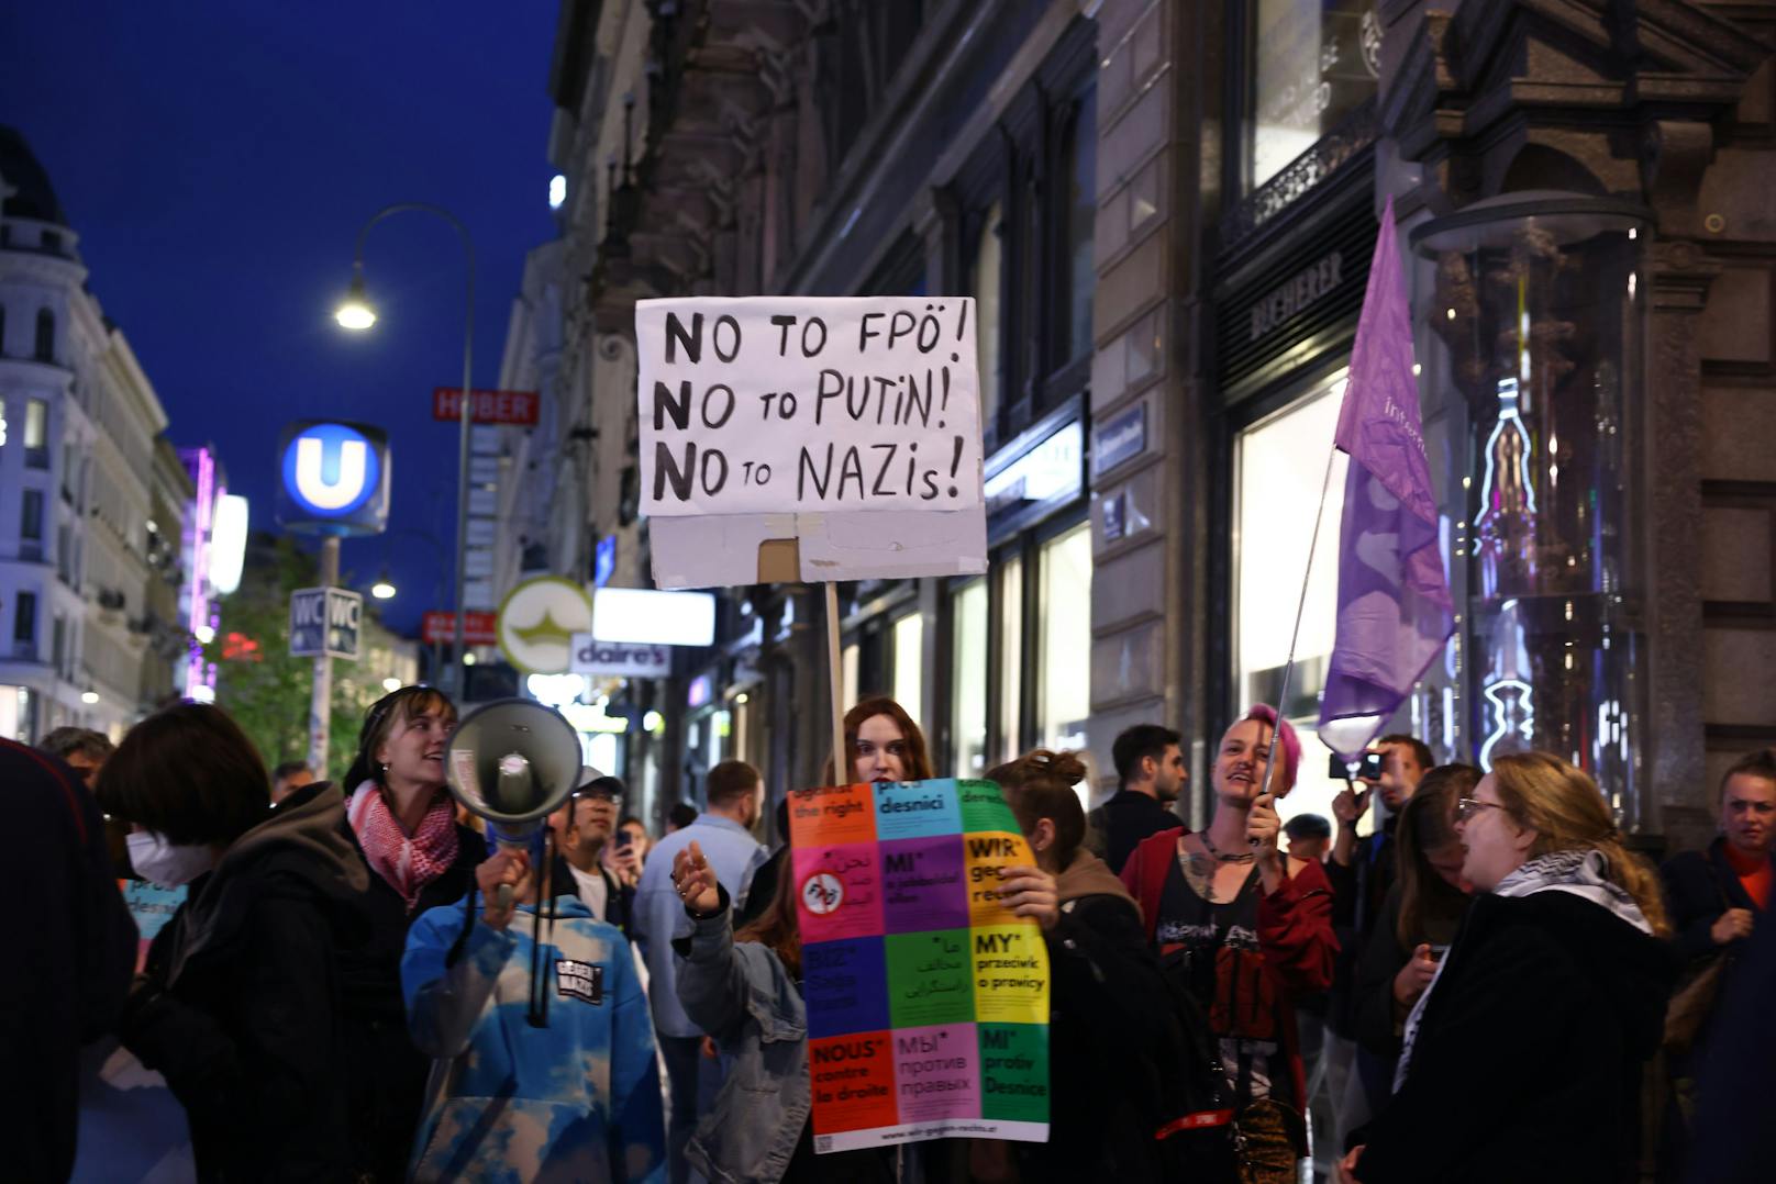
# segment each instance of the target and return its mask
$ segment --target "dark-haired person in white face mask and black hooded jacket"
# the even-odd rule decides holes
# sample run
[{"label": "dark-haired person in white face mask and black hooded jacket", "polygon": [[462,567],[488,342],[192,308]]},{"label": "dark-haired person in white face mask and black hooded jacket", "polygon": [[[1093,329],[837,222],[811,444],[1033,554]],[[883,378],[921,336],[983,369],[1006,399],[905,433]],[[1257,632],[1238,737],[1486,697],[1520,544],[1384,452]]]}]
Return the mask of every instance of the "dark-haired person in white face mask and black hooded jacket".
[{"label": "dark-haired person in white face mask and black hooded jacket", "polygon": [[362,941],[364,863],[345,799],[313,785],[277,811],[226,712],[165,708],[105,763],[135,870],[188,886],[117,1024],[185,1106],[201,1180],[350,1179],[339,950]]}]

